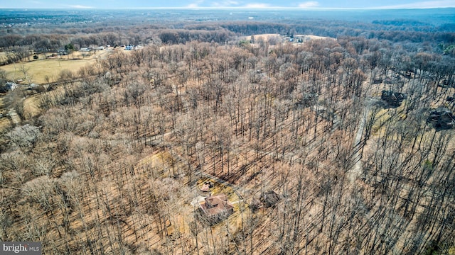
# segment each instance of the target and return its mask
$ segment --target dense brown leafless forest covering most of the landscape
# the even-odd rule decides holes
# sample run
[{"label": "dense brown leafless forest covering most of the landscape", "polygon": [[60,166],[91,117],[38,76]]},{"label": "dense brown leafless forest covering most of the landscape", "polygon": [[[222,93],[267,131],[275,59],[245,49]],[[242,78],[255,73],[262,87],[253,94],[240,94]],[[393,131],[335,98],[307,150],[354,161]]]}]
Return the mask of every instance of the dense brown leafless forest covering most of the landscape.
[{"label": "dense brown leafless forest covering most of the landscape", "polygon": [[[453,25],[105,22],[1,28],[16,56],[4,64],[144,47],[43,84],[28,95],[38,115],[24,91],[3,95],[21,121],[0,135],[0,240],[44,254],[455,254]],[[219,193],[233,212],[208,220],[194,200]]]}]

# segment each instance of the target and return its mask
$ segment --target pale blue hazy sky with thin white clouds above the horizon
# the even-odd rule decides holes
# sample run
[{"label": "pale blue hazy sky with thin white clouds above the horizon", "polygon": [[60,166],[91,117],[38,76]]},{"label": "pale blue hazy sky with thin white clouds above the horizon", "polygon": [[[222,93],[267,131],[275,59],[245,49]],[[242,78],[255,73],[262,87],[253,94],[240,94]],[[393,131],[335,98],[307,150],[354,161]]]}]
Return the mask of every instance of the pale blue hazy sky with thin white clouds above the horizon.
[{"label": "pale blue hazy sky with thin white clouds above the horizon", "polygon": [[[1,3],[3,2],[3,3]],[[439,8],[455,0],[1,0],[0,8]]]}]

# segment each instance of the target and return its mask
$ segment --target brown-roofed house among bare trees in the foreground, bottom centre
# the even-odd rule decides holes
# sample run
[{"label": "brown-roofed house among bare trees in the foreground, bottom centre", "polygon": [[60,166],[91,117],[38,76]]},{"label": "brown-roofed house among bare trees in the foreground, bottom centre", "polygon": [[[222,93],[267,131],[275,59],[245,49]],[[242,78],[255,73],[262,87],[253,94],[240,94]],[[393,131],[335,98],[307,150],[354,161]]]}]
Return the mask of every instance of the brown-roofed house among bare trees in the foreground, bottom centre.
[{"label": "brown-roofed house among bare trees in the foreground, bottom centre", "polygon": [[205,198],[205,201],[199,204],[199,208],[210,222],[224,220],[234,212],[234,206],[225,194]]}]

